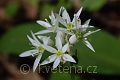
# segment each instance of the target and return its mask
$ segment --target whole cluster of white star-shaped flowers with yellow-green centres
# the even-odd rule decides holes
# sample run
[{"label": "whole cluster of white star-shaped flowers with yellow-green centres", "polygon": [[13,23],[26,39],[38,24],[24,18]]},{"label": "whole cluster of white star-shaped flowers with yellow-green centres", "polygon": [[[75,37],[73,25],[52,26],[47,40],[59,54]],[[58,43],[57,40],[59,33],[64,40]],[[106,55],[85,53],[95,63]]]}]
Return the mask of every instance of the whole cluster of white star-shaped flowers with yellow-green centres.
[{"label": "whole cluster of white star-shaped flowers with yellow-green centres", "polygon": [[[27,35],[29,41],[34,46],[34,49],[25,51],[20,54],[20,57],[27,56],[37,56],[33,71],[37,68],[42,55],[45,51],[48,51],[51,55],[44,60],[40,65],[45,65],[53,62],[53,69],[56,68],[60,62],[73,62],[76,63],[74,58],[71,56],[70,46],[76,42],[82,41],[88,48],[95,52],[92,45],[89,43],[87,37],[100,29],[95,31],[88,31],[88,28],[93,28],[90,26],[90,19],[84,24],[81,24],[79,18],[82,8],[74,14],[74,18],[71,20],[67,10],[64,7],[60,8],[59,14],[51,12],[49,20],[45,21],[38,20],[37,23],[45,28],[45,30],[40,30],[37,33],[32,34],[32,38]],[[53,33],[55,34],[55,46],[51,45],[54,42],[50,37],[44,36],[45,34]]]}]

